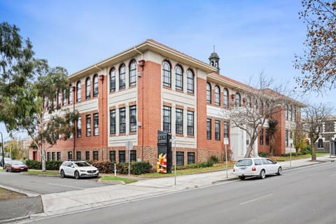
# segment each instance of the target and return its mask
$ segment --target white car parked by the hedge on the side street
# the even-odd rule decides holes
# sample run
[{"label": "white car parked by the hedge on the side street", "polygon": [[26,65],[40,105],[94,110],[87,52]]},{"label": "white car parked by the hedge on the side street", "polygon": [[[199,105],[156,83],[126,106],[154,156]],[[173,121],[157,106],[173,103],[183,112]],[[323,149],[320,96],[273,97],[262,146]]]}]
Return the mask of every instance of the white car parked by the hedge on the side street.
[{"label": "white car parked by the hedge on the side street", "polygon": [[66,161],[59,167],[59,174],[61,177],[73,176],[76,179],[82,177],[98,177],[99,171],[85,161]]}]

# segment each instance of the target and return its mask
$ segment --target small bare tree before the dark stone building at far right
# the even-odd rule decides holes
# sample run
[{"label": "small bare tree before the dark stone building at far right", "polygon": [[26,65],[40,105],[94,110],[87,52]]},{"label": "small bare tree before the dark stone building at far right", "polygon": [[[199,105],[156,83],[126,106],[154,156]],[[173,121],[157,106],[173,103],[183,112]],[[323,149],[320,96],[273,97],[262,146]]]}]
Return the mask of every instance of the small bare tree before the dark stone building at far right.
[{"label": "small bare tree before the dark stone building at far right", "polygon": [[322,132],[323,122],[332,114],[333,107],[329,104],[310,104],[303,112],[303,130],[307,132],[311,144],[311,161],[316,161],[315,142]]}]

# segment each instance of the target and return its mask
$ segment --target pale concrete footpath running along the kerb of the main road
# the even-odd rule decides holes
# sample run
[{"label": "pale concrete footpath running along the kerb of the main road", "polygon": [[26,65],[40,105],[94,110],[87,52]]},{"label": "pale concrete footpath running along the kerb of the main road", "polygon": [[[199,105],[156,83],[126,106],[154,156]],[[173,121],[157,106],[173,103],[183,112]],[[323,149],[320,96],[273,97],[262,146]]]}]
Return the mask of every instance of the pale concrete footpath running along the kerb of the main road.
[{"label": "pale concrete footpath running along the kerb of the main road", "polygon": [[[316,165],[321,162],[333,162],[335,158],[329,155],[317,158],[317,162],[311,162],[310,158],[302,160],[292,160],[279,162],[283,170]],[[228,174],[228,178],[227,178]],[[120,204],[134,200],[141,200],[156,195],[165,195],[175,193],[181,190],[193,188],[202,188],[211,186],[223,181],[235,181],[237,177],[232,173],[232,169],[206,172],[201,174],[190,174],[171,177],[162,177],[156,179],[140,179],[135,183],[127,185],[111,185],[98,188],[87,188],[85,190],[71,190],[64,193],[52,193],[41,195],[43,204],[43,213],[31,214],[25,217],[15,217],[13,219],[3,220],[0,217],[0,223],[16,222],[18,220],[34,220],[48,216],[57,216],[61,214],[70,214],[76,211],[85,211],[99,207],[106,207],[112,204]],[[176,185],[175,185],[176,181]]]}]

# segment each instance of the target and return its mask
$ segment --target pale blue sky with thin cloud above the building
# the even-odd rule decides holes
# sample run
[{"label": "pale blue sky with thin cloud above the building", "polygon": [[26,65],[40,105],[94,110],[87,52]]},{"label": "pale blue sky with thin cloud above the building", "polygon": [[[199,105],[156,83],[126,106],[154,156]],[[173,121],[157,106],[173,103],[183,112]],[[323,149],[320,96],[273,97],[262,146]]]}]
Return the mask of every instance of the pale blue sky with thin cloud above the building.
[{"label": "pale blue sky with thin cloud above the building", "polygon": [[[35,57],[69,74],[154,39],[207,63],[215,45],[221,75],[252,85],[264,73],[294,88],[306,35],[300,10],[300,0],[0,0],[0,22],[18,26]],[[335,94],[298,100],[336,107]],[[0,132],[9,140],[3,124]]]}]

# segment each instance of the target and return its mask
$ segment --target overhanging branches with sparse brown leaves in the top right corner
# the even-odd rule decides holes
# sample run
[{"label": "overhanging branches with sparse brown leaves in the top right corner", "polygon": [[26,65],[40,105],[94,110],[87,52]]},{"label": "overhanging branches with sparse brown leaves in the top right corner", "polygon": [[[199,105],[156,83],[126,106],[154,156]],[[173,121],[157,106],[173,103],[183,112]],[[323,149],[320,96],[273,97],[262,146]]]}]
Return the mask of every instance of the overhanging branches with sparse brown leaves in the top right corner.
[{"label": "overhanging branches with sparse brown leaves in the top right corner", "polygon": [[295,55],[296,81],[304,92],[336,87],[336,1],[302,0],[300,18],[307,25],[306,49]]}]

